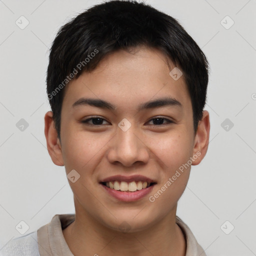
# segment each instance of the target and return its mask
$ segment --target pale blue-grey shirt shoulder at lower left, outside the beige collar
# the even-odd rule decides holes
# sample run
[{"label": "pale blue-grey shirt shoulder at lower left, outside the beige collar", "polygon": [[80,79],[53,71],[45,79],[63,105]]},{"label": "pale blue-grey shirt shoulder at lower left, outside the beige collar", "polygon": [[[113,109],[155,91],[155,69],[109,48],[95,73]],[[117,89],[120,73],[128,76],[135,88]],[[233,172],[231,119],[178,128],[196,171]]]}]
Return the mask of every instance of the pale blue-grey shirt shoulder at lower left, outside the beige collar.
[{"label": "pale blue-grey shirt shoulder at lower left, outside the beige collar", "polygon": [[14,238],[3,246],[0,256],[40,256],[37,231]]}]

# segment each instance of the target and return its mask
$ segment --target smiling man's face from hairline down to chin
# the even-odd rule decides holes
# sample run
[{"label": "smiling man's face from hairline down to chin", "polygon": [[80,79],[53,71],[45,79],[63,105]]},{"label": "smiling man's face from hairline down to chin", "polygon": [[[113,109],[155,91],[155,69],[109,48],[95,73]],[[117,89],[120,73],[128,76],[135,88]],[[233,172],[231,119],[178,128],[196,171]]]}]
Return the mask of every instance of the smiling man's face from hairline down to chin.
[{"label": "smiling man's face from hairline down to chin", "polygon": [[[111,53],[69,82],[59,151],[50,154],[66,174],[75,170],[73,180],[79,176],[68,179],[76,214],[114,230],[123,221],[143,230],[175,215],[190,165],[204,154],[183,77],[174,80],[169,71],[160,51],[140,47]],[[116,190],[127,188],[137,190]]]}]

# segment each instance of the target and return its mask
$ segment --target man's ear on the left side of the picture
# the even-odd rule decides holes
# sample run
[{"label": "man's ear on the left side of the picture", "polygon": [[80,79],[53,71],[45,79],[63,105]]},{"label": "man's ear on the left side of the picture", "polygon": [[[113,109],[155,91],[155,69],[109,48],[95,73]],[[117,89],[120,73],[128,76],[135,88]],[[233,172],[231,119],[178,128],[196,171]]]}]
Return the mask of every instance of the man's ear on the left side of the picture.
[{"label": "man's ear on the left side of the picture", "polygon": [[44,135],[51,160],[56,165],[63,166],[64,161],[61,152],[61,145],[59,138],[57,137],[57,130],[54,127],[52,111],[48,111],[44,115]]}]

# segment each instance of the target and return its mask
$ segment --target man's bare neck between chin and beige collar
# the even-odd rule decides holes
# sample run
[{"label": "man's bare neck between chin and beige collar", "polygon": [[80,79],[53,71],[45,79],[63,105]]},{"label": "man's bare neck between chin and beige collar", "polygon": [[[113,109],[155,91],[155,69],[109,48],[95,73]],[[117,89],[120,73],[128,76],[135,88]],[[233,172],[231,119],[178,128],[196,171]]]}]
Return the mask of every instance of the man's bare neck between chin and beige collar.
[{"label": "man's bare neck between chin and beige collar", "polygon": [[75,220],[63,230],[68,247],[75,256],[185,256],[186,242],[175,223],[174,209],[149,228],[129,232],[113,230],[84,212],[75,203]]}]

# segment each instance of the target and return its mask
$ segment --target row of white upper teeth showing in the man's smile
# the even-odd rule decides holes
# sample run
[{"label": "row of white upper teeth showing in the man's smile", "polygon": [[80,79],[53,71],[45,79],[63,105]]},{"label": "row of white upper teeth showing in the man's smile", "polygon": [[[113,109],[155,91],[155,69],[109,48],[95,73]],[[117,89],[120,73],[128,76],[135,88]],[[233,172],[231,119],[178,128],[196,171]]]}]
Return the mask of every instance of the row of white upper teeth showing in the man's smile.
[{"label": "row of white upper teeth showing in the man's smile", "polygon": [[109,181],[106,182],[106,186],[113,188],[115,190],[121,190],[121,191],[136,191],[140,190],[142,188],[146,188],[150,185],[150,183],[146,181],[131,181],[131,182],[126,182],[126,181]]}]

